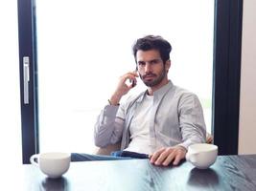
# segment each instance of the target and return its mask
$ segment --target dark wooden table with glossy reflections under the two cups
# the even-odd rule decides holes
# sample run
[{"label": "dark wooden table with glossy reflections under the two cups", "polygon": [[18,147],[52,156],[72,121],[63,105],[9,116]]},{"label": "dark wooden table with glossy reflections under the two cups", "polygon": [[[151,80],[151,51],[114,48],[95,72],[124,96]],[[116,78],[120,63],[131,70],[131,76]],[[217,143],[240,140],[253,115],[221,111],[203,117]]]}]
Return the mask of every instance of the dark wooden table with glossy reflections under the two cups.
[{"label": "dark wooden table with glossy reflections under the two cups", "polygon": [[154,166],[148,159],[71,162],[69,171],[57,180],[24,164],[5,182],[10,186],[6,190],[24,191],[255,191],[256,155],[219,156],[206,170],[187,161],[177,167]]}]

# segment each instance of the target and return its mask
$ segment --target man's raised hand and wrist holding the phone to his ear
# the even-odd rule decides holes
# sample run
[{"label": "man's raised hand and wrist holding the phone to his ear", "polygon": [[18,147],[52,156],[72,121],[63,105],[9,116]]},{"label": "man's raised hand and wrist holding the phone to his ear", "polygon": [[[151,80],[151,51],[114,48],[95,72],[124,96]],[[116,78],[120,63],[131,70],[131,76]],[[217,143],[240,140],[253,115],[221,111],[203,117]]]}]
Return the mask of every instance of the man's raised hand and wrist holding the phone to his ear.
[{"label": "man's raised hand and wrist holding the phone to his ear", "polygon": [[[114,94],[109,99],[112,105],[118,105],[122,96],[128,94],[128,91],[131,88],[133,88],[132,81],[134,80],[136,83],[136,77],[138,77],[138,76],[139,75],[136,72],[130,72],[130,73],[122,75],[119,78],[119,82],[116,87],[116,90],[115,90]],[[130,81],[130,83],[127,82],[128,80]]]}]

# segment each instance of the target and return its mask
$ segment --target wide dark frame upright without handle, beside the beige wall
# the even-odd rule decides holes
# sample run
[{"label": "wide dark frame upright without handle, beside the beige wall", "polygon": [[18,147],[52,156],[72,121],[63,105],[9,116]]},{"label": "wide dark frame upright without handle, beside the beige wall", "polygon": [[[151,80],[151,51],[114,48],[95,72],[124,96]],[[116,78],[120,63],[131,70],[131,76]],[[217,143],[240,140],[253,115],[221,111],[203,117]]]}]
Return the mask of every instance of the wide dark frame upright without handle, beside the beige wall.
[{"label": "wide dark frame upright without handle, beside the beige wall", "polygon": [[219,155],[237,155],[243,0],[216,0],[212,134]]}]

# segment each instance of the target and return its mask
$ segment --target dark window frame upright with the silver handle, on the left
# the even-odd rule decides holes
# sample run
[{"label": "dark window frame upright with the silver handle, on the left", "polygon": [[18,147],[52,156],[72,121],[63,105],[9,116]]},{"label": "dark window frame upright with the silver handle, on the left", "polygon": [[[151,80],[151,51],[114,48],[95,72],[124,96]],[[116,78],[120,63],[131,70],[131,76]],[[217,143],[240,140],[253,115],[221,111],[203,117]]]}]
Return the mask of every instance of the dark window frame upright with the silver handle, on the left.
[{"label": "dark window frame upright with the silver handle, on the left", "polygon": [[[35,1],[18,0],[17,9],[22,161],[30,163],[30,157],[39,153]],[[24,103],[24,56],[28,56],[30,59],[29,104]]]}]

